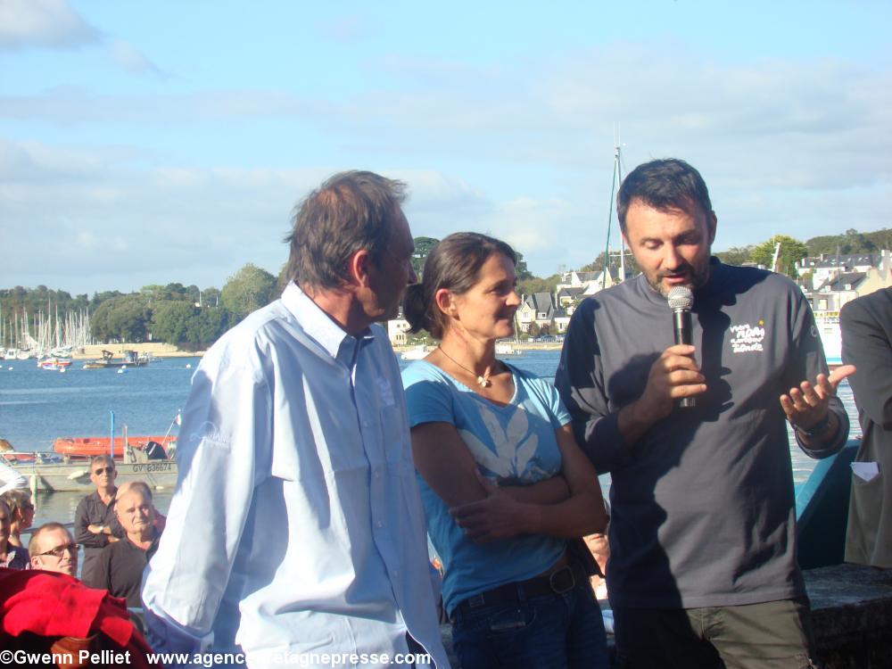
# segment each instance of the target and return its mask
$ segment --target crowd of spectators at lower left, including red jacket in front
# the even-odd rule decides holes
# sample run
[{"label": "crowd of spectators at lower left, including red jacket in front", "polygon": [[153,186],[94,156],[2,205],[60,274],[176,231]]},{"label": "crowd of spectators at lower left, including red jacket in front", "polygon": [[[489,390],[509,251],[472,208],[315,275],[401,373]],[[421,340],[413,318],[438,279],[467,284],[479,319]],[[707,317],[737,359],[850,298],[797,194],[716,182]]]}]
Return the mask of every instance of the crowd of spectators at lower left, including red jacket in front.
[{"label": "crowd of spectators at lower left, including red jacket in front", "polygon": [[[128,607],[140,606],[143,568],[157,546],[163,516],[147,484],[128,482],[119,489],[116,476],[114,460],[92,458],[96,491],[78,505],[74,534],[55,521],[31,531],[34,504],[27,482],[0,464],[0,648],[50,658],[129,651],[131,666],[151,666],[150,648]],[[78,544],[85,549],[82,579]],[[82,665],[89,664],[87,659]]]}]

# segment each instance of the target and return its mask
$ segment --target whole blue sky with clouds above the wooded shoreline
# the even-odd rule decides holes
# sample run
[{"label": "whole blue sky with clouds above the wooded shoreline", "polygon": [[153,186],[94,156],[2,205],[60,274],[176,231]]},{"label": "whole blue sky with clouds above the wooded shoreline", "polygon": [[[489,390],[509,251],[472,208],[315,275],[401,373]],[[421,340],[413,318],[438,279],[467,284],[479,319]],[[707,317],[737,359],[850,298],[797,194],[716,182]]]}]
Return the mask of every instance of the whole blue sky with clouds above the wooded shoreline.
[{"label": "whole blue sky with clouds above the wooded shoreline", "polygon": [[892,227],[892,3],[0,0],[0,288],[278,274],[294,205],[370,169],[416,236],[538,276],[618,248],[627,173],[706,179],[714,250]]}]

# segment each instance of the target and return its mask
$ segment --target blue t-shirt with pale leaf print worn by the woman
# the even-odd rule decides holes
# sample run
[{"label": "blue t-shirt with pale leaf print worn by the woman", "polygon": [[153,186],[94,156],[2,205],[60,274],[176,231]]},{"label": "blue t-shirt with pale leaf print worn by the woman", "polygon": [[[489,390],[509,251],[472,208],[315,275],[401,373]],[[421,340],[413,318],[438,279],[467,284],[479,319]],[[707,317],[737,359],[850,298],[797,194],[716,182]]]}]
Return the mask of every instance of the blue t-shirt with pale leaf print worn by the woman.
[{"label": "blue t-shirt with pale leaf print worn by the woman", "polygon": [[[570,415],[548,382],[505,364],[515,388],[505,406],[481,397],[425,360],[409,365],[402,373],[409,426],[455,425],[481,474],[503,484],[537,483],[560,473],[555,431],[570,422]],[[418,485],[428,533],[445,570],[443,603],[450,613],[464,599],[541,574],[564,553],[563,539],[544,534],[483,544],[470,541],[420,475]]]}]

